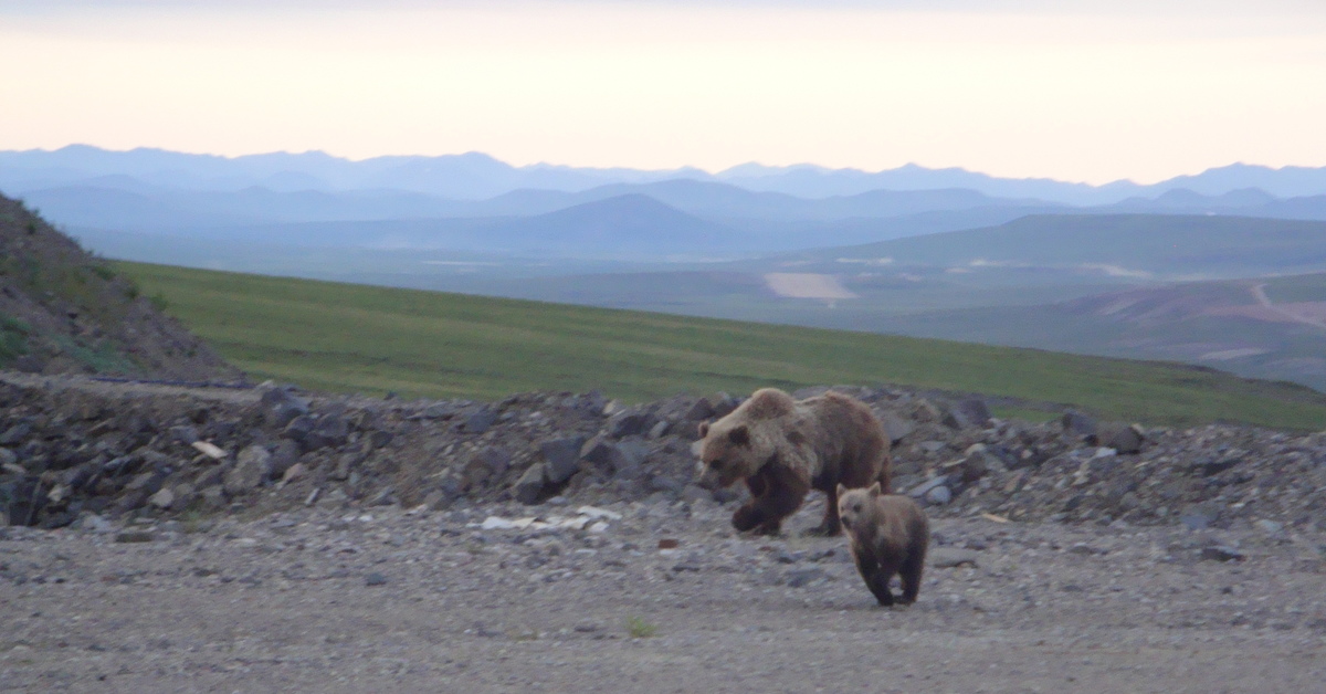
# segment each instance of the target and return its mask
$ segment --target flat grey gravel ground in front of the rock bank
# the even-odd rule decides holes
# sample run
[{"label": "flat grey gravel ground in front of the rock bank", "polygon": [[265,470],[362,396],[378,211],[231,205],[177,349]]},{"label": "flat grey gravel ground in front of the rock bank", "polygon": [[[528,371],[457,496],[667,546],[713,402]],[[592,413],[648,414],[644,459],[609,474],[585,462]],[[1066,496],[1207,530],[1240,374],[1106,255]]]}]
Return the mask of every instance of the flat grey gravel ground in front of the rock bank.
[{"label": "flat grey gravel ground in front of the rock bank", "polygon": [[[939,518],[919,602],[886,609],[846,540],[801,535],[821,499],[781,539],[737,536],[708,500],[3,528],[0,690],[1305,693],[1326,679],[1313,529]],[[529,514],[582,527],[483,527]],[[975,565],[941,567],[955,561]]]}]

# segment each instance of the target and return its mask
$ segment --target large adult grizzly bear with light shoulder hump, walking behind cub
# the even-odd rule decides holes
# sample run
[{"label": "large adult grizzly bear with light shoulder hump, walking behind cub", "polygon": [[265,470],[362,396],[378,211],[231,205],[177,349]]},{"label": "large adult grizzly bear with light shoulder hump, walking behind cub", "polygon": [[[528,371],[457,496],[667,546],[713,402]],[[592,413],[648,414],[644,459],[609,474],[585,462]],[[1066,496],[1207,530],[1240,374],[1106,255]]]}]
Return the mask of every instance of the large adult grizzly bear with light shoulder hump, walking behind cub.
[{"label": "large adult grizzly bear with light shoulder hump, walking behind cub", "polygon": [[870,406],[825,393],[802,401],[774,389],[756,390],[727,417],[700,425],[699,484],[745,480],[751,500],[732,525],[777,535],[812,488],[829,495],[823,521],[812,532],[838,535],[838,488],[878,482],[890,488],[888,437]]}]

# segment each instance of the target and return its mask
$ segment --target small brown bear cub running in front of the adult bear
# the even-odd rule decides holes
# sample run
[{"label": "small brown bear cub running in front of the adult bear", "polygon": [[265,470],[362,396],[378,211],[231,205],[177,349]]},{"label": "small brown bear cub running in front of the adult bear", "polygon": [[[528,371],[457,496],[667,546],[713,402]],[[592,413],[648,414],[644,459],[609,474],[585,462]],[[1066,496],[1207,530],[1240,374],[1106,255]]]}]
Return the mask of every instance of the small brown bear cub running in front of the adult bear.
[{"label": "small brown bear cub running in front of the adult bear", "polygon": [[884,494],[876,483],[869,490],[838,487],[838,514],[851,539],[857,571],[875,600],[892,606],[888,581],[896,573],[903,584],[898,602],[915,602],[930,545],[930,521],[920,506],[907,496]]}]

